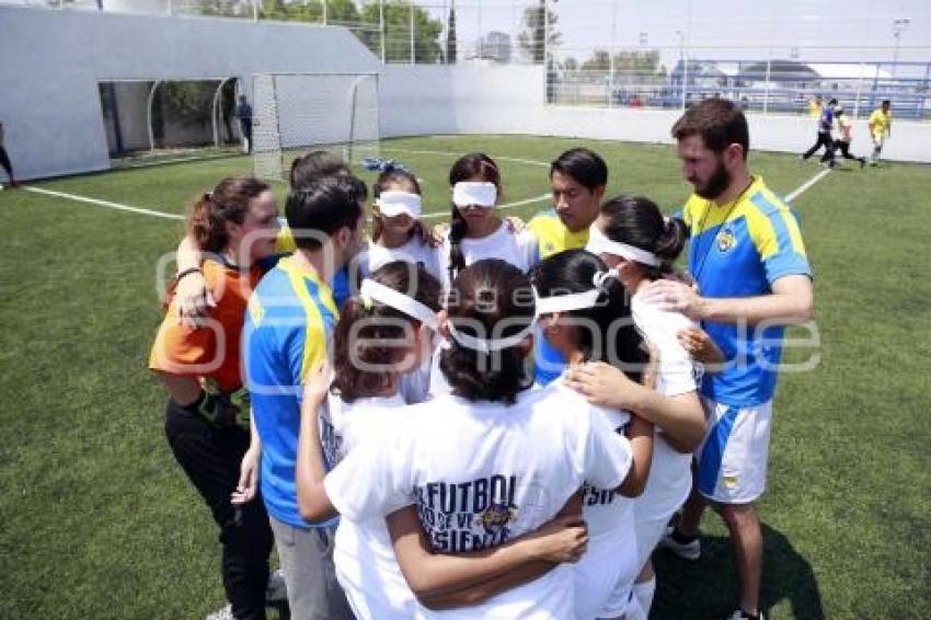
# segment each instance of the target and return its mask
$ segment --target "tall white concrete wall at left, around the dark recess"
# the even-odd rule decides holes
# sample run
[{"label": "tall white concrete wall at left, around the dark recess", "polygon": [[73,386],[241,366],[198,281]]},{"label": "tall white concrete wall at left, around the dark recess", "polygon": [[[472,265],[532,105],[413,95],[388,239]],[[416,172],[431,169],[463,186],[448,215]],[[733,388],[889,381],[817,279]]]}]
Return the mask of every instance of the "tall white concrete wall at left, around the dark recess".
[{"label": "tall white concrete wall at left, around the dark recess", "polygon": [[377,71],[345,28],[0,5],[0,120],[22,179],[110,168],[99,81]]}]

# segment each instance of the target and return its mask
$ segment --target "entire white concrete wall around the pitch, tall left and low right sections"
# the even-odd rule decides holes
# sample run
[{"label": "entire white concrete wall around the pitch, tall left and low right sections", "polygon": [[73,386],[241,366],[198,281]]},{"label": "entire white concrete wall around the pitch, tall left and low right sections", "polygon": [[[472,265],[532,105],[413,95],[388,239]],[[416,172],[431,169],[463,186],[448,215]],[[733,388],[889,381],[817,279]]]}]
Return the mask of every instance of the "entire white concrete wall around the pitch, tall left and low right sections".
[{"label": "entire white concrete wall around the pitch, tall left and low right sections", "polygon": [[[0,120],[23,179],[110,167],[97,82],[382,69],[348,31],[248,20],[0,5]],[[669,142],[678,111],[544,104],[541,67],[388,66],[382,136],[530,134]],[[805,117],[750,116],[755,149],[798,152]],[[861,120],[853,150],[865,153]],[[898,122],[884,157],[931,162],[931,125]]]}]

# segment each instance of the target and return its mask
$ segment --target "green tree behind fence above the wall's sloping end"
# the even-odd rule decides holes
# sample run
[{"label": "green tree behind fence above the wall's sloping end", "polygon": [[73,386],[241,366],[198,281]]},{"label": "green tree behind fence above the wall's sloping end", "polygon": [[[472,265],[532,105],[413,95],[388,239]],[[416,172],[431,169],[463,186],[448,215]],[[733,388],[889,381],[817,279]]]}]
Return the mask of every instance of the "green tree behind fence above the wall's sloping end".
[{"label": "green tree behind fence above the wall's sloping end", "polygon": [[[386,0],[384,2],[384,61],[411,61],[411,11],[414,11],[414,61],[435,64],[440,60],[442,48],[439,34],[442,23],[430,18],[429,13],[413,5],[409,0]],[[363,8],[361,19],[366,23],[379,23],[378,2]],[[361,32],[357,35],[369,49],[380,51],[380,33]]]}]

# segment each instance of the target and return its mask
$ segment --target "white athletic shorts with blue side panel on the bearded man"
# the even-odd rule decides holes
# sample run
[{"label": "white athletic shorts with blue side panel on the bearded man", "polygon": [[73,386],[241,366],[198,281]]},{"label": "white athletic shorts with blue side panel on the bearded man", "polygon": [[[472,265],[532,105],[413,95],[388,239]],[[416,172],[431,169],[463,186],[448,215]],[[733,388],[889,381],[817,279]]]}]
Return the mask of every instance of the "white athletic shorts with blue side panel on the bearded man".
[{"label": "white athletic shorts with blue side panel on the bearded man", "polygon": [[720,504],[748,504],[766,489],[772,401],[733,406],[702,397],[708,434],[698,449],[698,490]]}]

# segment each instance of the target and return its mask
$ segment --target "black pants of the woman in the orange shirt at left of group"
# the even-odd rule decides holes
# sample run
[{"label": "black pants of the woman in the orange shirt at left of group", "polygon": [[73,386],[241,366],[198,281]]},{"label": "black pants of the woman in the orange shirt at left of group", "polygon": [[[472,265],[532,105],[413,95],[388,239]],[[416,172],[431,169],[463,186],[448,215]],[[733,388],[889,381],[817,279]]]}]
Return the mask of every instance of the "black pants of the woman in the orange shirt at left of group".
[{"label": "black pants of the woman in the orange shirt at left of group", "polygon": [[220,526],[223,588],[233,616],[264,620],[268,554],[274,544],[272,526],[261,496],[244,505],[239,517],[230,504],[242,456],[249,448],[249,433],[238,426],[216,428],[169,401],[165,436],[174,458]]}]

